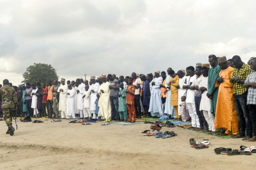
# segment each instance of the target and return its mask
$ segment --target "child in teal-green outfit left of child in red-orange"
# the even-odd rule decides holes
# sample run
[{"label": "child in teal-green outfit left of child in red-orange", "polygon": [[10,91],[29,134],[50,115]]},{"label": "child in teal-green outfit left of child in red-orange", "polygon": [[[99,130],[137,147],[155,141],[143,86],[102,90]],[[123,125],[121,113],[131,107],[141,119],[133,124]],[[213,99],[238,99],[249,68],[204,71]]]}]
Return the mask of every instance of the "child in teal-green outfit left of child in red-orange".
[{"label": "child in teal-green outfit left of child in red-orange", "polygon": [[127,121],[127,105],[126,105],[126,89],[123,87],[123,83],[119,84],[121,90],[119,93],[119,108],[118,112],[120,115],[119,121]]}]

